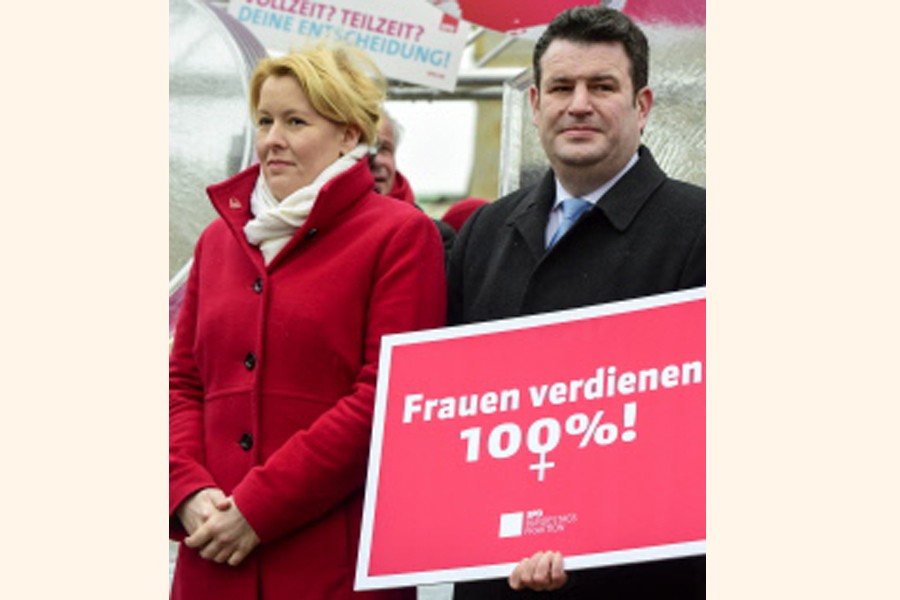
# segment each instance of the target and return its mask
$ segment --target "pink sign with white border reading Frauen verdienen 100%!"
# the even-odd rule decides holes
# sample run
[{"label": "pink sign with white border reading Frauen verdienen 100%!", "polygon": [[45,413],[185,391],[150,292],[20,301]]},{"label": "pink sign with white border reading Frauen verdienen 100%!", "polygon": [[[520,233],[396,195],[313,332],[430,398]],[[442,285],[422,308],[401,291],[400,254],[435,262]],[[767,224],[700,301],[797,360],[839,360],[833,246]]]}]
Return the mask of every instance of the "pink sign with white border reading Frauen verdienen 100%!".
[{"label": "pink sign with white border reading Frauen verdienen 100%!", "polygon": [[703,554],[705,288],[386,337],[357,589]]}]

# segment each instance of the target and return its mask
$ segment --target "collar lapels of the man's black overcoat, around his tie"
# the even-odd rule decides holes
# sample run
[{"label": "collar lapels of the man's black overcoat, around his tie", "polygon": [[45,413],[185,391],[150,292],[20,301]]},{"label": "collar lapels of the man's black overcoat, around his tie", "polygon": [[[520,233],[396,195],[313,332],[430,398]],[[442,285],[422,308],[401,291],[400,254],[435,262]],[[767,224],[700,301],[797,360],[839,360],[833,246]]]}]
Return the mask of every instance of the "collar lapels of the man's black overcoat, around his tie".
[{"label": "collar lapels of the man's black overcoat, around his tie", "polygon": [[[547,219],[556,200],[556,182],[548,169],[540,182],[528,191],[506,224],[519,230],[536,256],[544,254]],[[659,168],[650,149],[641,145],[638,161],[600,199],[590,212],[603,213],[618,231],[625,231],[641,208],[663,181],[666,174]]]}]

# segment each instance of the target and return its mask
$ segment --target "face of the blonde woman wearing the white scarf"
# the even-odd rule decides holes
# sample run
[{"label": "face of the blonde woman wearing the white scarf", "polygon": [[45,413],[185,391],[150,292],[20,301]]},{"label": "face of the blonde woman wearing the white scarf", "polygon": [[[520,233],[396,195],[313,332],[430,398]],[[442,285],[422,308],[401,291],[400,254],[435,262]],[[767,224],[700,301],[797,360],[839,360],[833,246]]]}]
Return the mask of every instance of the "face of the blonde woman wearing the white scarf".
[{"label": "face of the blonde woman wearing the white scarf", "polygon": [[278,201],[312,183],[360,138],[355,128],[317,113],[297,80],[289,76],[263,81],[256,119],[256,153]]}]

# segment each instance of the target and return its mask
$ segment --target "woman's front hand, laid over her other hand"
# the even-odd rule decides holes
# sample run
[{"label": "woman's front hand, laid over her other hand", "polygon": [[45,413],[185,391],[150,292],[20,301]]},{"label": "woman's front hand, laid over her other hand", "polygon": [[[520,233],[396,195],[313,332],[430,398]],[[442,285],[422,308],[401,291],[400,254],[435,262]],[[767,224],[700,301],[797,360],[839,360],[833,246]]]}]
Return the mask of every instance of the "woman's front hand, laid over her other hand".
[{"label": "woman's front hand, laid over her other hand", "polygon": [[200,549],[200,556],[205,559],[235,567],[256,548],[259,536],[230,496],[217,508],[184,543]]}]

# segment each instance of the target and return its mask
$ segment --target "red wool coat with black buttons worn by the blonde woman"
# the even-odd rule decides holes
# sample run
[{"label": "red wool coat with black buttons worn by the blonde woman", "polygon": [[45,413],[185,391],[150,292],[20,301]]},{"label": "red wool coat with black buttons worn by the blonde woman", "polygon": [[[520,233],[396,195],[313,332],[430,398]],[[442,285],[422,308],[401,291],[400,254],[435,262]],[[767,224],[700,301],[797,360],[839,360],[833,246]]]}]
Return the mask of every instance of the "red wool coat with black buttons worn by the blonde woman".
[{"label": "red wool coat with black buttons worn by the blonde woman", "polygon": [[443,249],[421,211],[373,191],[365,161],[319,193],[266,266],[243,233],[259,167],[208,188],[169,362],[170,536],[177,507],[220,487],[261,539],[238,567],[183,544],[173,598],[354,594],[381,337],[443,325]]}]

